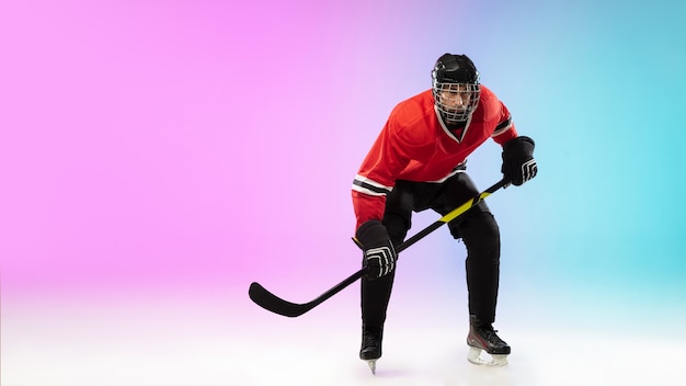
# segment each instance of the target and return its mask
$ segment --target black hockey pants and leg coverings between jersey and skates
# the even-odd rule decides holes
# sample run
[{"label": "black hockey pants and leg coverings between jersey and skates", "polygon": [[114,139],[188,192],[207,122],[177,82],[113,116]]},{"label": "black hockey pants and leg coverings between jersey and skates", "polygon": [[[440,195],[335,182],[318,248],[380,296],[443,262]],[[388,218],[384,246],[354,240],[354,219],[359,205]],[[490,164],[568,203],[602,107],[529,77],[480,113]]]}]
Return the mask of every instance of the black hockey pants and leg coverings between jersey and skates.
[{"label": "black hockey pants and leg coverings between jersey and skates", "polygon": [[[411,227],[412,212],[427,208],[446,215],[479,194],[466,172],[443,183],[397,181],[387,196],[384,225],[399,246]],[[448,223],[450,234],[467,247],[466,272],[469,314],[493,322],[500,277],[500,230],[485,202]],[[362,279],[363,325],[382,328],[396,272],[370,281]]]}]

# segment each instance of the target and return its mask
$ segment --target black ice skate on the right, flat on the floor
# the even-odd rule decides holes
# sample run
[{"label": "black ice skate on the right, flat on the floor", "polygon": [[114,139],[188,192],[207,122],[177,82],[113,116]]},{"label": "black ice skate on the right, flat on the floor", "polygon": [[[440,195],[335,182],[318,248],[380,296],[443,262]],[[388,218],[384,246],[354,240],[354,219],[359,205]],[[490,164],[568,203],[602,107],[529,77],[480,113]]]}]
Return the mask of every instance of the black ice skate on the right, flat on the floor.
[{"label": "black ice skate on the right, flat on the floor", "polygon": [[[480,322],[475,315],[469,317],[469,334],[467,336],[467,344],[469,345],[467,360],[469,362],[487,366],[507,364],[510,345],[500,339],[495,332],[498,331],[490,323]],[[491,361],[482,360],[480,357],[481,351],[491,355]]]}]

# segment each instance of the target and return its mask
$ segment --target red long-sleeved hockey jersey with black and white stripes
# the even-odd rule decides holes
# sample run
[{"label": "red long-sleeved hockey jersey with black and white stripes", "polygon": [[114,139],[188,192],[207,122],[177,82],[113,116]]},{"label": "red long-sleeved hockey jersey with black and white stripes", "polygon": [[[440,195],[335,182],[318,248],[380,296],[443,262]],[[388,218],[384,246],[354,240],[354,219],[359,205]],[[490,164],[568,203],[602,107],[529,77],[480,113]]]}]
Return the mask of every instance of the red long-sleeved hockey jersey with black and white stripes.
[{"label": "red long-sleeved hockey jersey with black and white stripes", "polygon": [[483,84],[479,106],[462,130],[443,124],[432,90],[400,102],[353,181],[356,228],[384,217],[396,180],[443,182],[488,138],[502,145],[516,136],[507,107]]}]

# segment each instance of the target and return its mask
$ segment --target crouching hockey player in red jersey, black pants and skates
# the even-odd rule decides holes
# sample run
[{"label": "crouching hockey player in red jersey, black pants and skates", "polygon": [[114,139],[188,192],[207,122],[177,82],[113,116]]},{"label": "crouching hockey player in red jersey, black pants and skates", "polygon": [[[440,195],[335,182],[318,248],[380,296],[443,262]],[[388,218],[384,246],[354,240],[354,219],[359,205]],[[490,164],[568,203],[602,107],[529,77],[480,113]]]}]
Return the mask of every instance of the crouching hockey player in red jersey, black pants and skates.
[{"label": "crouching hockey player in red jersey, black pants and skates", "polygon": [[[353,182],[355,238],[368,269],[362,280],[359,357],[373,372],[381,356],[396,248],[410,229],[412,213],[431,208],[443,216],[478,195],[466,162],[489,138],[502,145],[501,171],[512,184],[522,185],[537,173],[534,140],[517,135],[507,107],[479,83],[471,59],[445,54],[431,75],[431,90],[392,110]],[[448,228],[467,248],[468,360],[504,365],[510,345],[492,327],[500,276],[498,224],[482,201]],[[482,350],[491,354],[490,362],[479,357]]]}]

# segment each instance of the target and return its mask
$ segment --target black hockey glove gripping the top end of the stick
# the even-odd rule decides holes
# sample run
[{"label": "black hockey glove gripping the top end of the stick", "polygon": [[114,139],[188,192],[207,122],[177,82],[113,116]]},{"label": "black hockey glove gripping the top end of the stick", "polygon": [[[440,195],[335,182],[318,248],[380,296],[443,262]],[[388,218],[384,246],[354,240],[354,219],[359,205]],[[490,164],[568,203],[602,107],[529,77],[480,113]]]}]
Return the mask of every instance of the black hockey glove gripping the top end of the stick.
[{"label": "black hockey glove gripping the top end of the stick", "polygon": [[503,145],[501,171],[513,185],[518,186],[536,177],[538,166],[534,159],[534,139],[517,137]]}]

